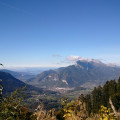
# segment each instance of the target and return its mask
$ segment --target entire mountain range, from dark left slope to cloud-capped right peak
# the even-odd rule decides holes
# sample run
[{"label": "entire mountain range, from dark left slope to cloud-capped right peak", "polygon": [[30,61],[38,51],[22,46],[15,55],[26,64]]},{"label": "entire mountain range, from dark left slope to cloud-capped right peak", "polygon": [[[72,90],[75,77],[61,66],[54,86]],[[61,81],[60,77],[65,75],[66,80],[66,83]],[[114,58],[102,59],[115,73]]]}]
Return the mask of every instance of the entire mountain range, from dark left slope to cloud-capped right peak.
[{"label": "entire mountain range, from dark left slope to cloud-capped right peak", "polygon": [[0,70],[0,79],[3,80],[4,91],[7,92],[14,91],[25,84],[29,89],[38,90],[40,88],[40,91],[43,90],[42,88],[49,90],[62,88],[69,90],[69,88],[75,87],[93,88],[103,85],[108,80],[118,79],[119,76],[120,67],[110,66],[94,59],[78,60],[74,65],[47,70],[36,76]]}]

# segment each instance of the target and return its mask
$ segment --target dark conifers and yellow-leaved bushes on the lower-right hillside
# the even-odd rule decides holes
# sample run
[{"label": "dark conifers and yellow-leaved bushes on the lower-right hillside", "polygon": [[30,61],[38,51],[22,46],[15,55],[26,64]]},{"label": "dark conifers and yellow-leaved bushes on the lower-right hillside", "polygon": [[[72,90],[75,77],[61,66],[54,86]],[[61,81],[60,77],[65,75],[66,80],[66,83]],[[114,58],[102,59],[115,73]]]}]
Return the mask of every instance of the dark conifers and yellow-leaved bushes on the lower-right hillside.
[{"label": "dark conifers and yellow-leaved bushes on the lower-right hillside", "polygon": [[63,100],[64,107],[57,112],[60,120],[119,120],[120,78],[95,87],[91,94],[81,94],[75,101]]}]

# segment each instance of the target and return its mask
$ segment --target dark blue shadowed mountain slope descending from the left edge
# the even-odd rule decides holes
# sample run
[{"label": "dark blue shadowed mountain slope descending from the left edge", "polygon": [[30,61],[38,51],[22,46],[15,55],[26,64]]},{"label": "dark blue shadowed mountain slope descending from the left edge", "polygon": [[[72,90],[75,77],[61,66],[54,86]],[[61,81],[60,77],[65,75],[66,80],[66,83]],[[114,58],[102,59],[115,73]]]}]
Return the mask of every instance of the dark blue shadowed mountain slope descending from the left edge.
[{"label": "dark blue shadowed mountain slope descending from the left edge", "polygon": [[13,77],[10,73],[0,71],[0,79],[2,80],[1,84],[3,86],[3,95],[8,95],[16,89],[26,86],[24,92],[27,96],[32,94],[55,94],[55,92],[43,90],[42,88],[37,88],[32,85],[28,85],[21,80]]}]

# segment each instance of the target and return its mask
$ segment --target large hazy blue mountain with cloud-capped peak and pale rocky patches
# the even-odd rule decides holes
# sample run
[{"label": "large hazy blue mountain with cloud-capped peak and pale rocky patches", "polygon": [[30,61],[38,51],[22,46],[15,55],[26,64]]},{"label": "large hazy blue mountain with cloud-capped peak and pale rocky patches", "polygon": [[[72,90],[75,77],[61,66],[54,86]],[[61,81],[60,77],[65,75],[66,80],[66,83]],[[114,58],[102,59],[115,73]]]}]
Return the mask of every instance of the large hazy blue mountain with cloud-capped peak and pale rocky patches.
[{"label": "large hazy blue mountain with cloud-capped peak and pale rocky patches", "polygon": [[108,66],[98,60],[79,60],[74,65],[38,74],[27,83],[43,88],[92,87],[119,76],[120,67]]}]

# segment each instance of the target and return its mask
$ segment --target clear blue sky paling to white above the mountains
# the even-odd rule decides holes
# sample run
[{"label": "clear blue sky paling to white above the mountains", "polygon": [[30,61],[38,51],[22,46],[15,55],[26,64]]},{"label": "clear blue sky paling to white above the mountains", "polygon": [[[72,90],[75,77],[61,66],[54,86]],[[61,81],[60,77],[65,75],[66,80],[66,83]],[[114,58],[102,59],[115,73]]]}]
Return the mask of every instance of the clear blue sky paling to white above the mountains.
[{"label": "clear blue sky paling to white above the mountains", "polygon": [[69,57],[120,65],[120,0],[0,0],[0,63],[60,67]]}]

